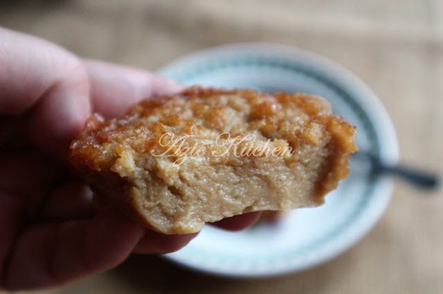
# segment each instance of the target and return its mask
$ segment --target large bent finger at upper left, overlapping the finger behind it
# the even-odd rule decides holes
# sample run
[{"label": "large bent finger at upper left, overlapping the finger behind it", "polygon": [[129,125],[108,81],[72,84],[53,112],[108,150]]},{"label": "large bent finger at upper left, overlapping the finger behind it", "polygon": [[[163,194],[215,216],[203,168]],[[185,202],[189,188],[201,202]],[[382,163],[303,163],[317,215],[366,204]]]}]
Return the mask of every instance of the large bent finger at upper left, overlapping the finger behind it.
[{"label": "large bent finger at upper left, overlapping the finger behind it", "polygon": [[34,143],[64,158],[90,114],[82,63],[53,43],[0,28],[0,65],[0,115],[28,114]]}]

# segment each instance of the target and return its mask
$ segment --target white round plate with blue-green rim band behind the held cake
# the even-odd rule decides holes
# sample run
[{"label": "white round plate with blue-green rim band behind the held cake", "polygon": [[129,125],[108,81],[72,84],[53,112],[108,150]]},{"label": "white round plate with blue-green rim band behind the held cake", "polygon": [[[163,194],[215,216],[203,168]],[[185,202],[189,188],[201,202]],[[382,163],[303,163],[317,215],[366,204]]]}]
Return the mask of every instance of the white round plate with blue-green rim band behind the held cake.
[{"label": "white round plate with blue-green rim band behind the held cake", "polygon": [[[374,93],[347,70],[309,52],[262,43],[210,48],[160,70],[183,84],[307,92],[329,100],[334,112],[357,127],[357,144],[387,161],[398,148],[390,118]],[[206,226],[166,257],[217,275],[259,277],[301,271],[326,262],[359,241],[386,208],[392,182],[370,164],[351,160],[351,173],[318,208],[287,213],[278,226],[239,233]]]}]

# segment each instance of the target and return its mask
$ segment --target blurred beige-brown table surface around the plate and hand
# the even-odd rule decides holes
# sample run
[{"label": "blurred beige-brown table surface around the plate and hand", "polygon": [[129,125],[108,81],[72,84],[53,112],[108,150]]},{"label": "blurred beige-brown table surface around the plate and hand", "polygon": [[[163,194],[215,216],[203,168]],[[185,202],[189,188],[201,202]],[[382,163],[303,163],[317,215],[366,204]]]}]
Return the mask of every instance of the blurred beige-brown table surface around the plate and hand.
[{"label": "blurred beige-brown table surface around the plate and hand", "polygon": [[[310,50],[379,95],[401,161],[443,172],[440,0],[2,0],[0,26],[152,71],[224,43]],[[112,271],[41,293],[442,293],[442,196],[397,181],[386,213],[361,242],[303,273],[228,280],[134,255]]]}]

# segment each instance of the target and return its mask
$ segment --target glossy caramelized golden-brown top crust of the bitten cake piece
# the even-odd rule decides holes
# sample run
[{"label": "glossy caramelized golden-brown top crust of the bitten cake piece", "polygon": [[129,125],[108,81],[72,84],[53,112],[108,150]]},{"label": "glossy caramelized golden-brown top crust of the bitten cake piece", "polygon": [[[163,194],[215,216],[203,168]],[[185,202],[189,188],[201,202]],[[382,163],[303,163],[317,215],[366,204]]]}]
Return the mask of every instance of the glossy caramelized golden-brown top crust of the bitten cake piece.
[{"label": "glossy caramelized golden-brown top crust of the bitten cake piece", "polygon": [[[300,142],[319,144],[327,135],[336,138],[334,148],[352,153],[354,133],[354,127],[332,115],[327,101],[319,97],[193,87],[141,101],[118,118],[93,115],[71,144],[70,161],[80,169],[102,170],[129,149],[146,156],[165,153],[170,160],[192,155],[226,164],[232,159],[229,154],[214,156],[226,151],[227,144],[221,143],[247,135],[260,140],[251,143],[250,137],[241,144],[281,140],[293,149]],[[179,139],[183,144],[172,144]],[[205,151],[191,153],[196,144],[204,145]]]}]

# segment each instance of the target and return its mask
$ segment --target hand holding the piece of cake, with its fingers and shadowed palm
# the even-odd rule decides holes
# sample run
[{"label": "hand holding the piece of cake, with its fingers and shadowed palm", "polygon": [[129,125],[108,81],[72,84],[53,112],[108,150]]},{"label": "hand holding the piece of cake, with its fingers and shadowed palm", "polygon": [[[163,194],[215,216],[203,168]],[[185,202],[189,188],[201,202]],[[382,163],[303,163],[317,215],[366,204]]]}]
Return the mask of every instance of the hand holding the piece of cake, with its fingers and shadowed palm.
[{"label": "hand holding the piece of cake, with its fingers and shadowed palm", "polygon": [[[113,117],[181,86],[3,28],[0,65],[0,288],[65,284],[114,268],[130,253],[177,251],[197,235],[163,235],[119,210],[98,210],[66,164],[69,144],[92,112]],[[215,225],[236,231],[258,217]]]}]

